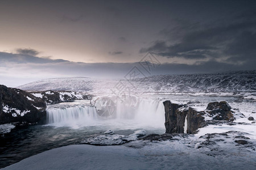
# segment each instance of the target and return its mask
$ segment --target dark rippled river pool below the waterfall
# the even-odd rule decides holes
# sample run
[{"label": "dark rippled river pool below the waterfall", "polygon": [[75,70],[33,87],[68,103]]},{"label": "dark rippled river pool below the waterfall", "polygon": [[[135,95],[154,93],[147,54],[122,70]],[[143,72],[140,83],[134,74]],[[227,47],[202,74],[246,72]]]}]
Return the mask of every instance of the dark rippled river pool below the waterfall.
[{"label": "dark rippled river pool below the waterfall", "polygon": [[[87,138],[104,134],[106,127],[87,126],[79,129],[52,126],[24,126],[0,138],[0,168],[19,162],[52,148],[76,145]],[[129,135],[138,129],[115,130],[115,134]],[[156,130],[157,131],[157,130]],[[147,130],[147,134],[155,131]]]}]

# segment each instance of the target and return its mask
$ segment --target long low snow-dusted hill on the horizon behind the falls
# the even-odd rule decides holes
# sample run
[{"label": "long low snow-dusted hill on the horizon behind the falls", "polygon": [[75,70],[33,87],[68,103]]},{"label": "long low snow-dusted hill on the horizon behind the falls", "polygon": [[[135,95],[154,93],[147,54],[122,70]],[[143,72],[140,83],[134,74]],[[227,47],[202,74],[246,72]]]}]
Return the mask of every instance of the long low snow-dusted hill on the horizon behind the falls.
[{"label": "long low snow-dusted hill on the horizon behind the falls", "polygon": [[[53,78],[24,84],[22,90],[68,90],[82,92],[116,91],[120,79]],[[138,92],[238,92],[256,91],[256,70],[214,74],[154,75],[128,82],[121,79],[126,91]]]}]

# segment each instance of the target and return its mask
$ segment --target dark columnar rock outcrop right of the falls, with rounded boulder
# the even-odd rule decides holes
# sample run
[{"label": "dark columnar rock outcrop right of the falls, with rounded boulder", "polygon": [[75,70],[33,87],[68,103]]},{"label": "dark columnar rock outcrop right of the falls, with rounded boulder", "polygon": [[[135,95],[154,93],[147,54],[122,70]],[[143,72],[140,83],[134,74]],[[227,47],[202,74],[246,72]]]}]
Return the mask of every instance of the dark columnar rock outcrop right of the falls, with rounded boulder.
[{"label": "dark columnar rock outcrop right of the falls, with rounded boulder", "polygon": [[[188,133],[194,134],[199,128],[208,124],[205,116],[212,117],[214,121],[233,121],[231,107],[226,101],[209,103],[207,110],[196,111],[183,104],[171,103],[167,100],[163,102],[165,109],[166,133]],[[185,129],[185,130],[184,130]]]}]

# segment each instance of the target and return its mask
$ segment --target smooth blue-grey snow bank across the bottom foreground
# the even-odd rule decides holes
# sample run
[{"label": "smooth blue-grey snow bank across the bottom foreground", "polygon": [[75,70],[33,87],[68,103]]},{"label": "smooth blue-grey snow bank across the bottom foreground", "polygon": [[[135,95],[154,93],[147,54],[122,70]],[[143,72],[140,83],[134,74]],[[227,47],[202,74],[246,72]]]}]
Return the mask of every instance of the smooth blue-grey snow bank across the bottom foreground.
[{"label": "smooth blue-grey snow bank across the bottom foreground", "polygon": [[255,169],[253,150],[232,146],[225,153],[211,156],[201,151],[208,148],[196,149],[185,143],[187,138],[134,141],[122,146],[71,145],[31,156],[3,169]]}]

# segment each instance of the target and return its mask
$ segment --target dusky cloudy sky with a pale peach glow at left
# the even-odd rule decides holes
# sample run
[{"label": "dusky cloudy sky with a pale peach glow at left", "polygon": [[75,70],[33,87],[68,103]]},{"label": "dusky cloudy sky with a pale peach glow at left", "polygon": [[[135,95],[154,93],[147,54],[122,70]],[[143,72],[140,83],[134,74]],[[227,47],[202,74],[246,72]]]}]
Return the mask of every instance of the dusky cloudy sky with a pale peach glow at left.
[{"label": "dusky cloudy sky with a pale peach glow at left", "polygon": [[255,70],[256,1],[0,1],[0,84],[134,68]]}]

